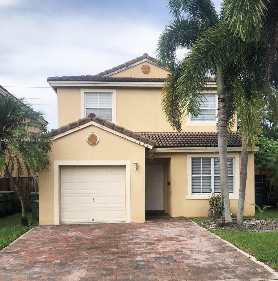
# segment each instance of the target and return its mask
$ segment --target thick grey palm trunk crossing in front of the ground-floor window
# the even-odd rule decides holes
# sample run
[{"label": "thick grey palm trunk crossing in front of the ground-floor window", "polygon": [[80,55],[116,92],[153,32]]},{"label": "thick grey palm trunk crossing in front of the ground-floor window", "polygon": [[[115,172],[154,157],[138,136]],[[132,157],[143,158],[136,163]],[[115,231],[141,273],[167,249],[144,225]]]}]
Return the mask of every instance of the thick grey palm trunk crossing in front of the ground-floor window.
[{"label": "thick grey palm trunk crossing in front of the ground-floor window", "polygon": [[228,188],[228,167],[227,167],[227,122],[225,83],[221,65],[217,65],[217,95],[218,95],[218,150],[220,160],[220,184],[222,195],[222,223],[232,222],[229,188]]}]

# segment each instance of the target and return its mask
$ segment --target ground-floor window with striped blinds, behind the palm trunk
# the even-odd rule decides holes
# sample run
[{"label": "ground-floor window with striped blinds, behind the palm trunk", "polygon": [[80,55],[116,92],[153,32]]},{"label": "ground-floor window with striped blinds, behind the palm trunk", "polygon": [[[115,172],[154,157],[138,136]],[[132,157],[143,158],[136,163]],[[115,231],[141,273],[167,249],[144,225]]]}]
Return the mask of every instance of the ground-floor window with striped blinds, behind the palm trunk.
[{"label": "ground-floor window with striped blinds, behind the palm trunk", "polygon": [[[234,158],[228,158],[229,193],[234,191]],[[191,158],[192,194],[220,193],[219,158]]]}]

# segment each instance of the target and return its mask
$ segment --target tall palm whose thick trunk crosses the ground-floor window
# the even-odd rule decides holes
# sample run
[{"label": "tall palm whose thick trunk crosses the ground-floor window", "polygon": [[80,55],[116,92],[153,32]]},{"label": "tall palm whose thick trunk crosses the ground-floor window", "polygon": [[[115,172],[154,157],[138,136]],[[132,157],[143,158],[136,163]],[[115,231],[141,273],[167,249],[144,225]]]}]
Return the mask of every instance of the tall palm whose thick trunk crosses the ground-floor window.
[{"label": "tall palm whose thick trunk crosses the ground-floor window", "polygon": [[[204,52],[204,35],[216,35],[223,25],[211,0],[170,0],[170,12],[174,20],[163,30],[159,38],[157,58],[162,66],[168,66],[171,74],[163,88],[162,106],[173,128],[181,131],[183,113],[197,116],[205,89],[207,73],[217,75],[218,95],[218,147],[220,158],[220,182],[222,192],[222,220],[231,223],[227,168],[227,120],[223,62]],[[182,14],[184,13],[184,14]],[[217,36],[214,36],[217,37]],[[231,36],[230,36],[231,37]],[[210,42],[211,43],[211,42]],[[216,42],[217,43],[217,42]],[[176,50],[190,49],[190,54],[176,63]],[[195,59],[198,57],[198,60]]]}]

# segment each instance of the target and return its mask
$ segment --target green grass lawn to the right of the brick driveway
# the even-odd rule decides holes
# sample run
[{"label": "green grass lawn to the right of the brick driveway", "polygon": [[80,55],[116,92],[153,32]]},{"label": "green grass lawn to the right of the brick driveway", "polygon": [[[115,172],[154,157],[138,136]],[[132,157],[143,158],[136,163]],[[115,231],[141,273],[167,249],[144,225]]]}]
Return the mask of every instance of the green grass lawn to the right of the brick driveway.
[{"label": "green grass lawn to the right of the brick driveway", "polygon": [[[248,217],[259,218],[259,212],[256,210],[255,216]],[[278,218],[278,210],[266,210],[262,218]],[[213,218],[202,217],[190,219],[204,227],[201,221],[211,220]],[[246,251],[257,260],[265,262],[273,269],[278,270],[278,232],[247,232],[236,229],[213,229],[210,231],[229,241],[239,249]]]}]

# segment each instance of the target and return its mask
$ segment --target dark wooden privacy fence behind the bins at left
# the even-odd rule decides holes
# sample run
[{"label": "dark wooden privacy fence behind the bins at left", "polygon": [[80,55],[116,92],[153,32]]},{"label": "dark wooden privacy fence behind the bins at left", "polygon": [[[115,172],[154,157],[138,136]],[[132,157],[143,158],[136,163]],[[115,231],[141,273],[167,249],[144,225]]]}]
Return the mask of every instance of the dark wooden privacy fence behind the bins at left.
[{"label": "dark wooden privacy fence behind the bins at left", "polygon": [[[19,189],[23,194],[23,200],[25,203],[25,211],[31,212],[31,202],[29,199],[30,192],[39,191],[39,177],[20,177],[16,178]],[[8,178],[0,178],[0,190],[12,190],[14,191],[12,185]],[[12,202],[12,207],[15,212],[21,212],[21,204],[19,198],[14,192],[14,199]]]}]

